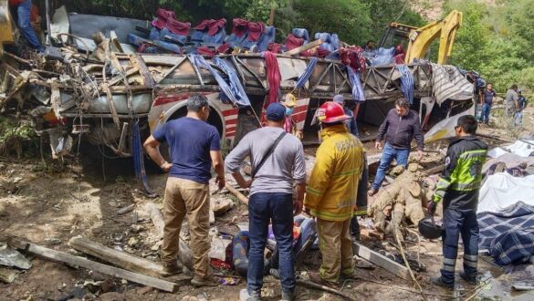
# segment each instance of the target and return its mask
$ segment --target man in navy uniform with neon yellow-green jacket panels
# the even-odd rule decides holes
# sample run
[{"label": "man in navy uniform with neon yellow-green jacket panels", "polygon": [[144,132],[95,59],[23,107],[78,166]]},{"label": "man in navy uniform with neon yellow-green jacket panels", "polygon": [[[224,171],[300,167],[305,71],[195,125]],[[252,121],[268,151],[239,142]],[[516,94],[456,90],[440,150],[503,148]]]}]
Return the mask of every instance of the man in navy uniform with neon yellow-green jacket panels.
[{"label": "man in navy uniform with neon yellow-green jacket panels", "polygon": [[458,238],[464,242],[464,272],[460,276],[476,283],[478,254],[478,223],[476,207],[478,190],[482,181],[482,165],[486,160],[487,145],[476,138],[476,119],[462,116],[455,126],[456,139],[451,141],[445,158],[445,171],[436,184],[433,202],[428,210],[435,213],[438,202],[443,200],[443,267],[441,276],[432,278],[435,285],[454,288]]}]

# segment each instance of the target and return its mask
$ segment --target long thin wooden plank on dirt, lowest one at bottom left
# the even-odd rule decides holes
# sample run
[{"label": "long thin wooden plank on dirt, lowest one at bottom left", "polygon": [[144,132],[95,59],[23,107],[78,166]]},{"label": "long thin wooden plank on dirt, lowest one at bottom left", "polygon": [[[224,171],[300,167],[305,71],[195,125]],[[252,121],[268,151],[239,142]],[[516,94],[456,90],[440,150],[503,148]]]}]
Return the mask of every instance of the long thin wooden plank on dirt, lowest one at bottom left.
[{"label": "long thin wooden plank on dirt, lowest one at bottom left", "polygon": [[89,270],[93,270],[93,271],[97,271],[102,274],[112,275],[114,277],[130,280],[131,282],[135,282],[141,285],[152,286],[154,288],[158,288],[166,292],[175,293],[176,291],[178,291],[179,285],[174,284],[169,281],[157,279],[157,278],[154,278],[148,275],[141,275],[141,274],[133,273],[133,272],[126,271],[121,268],[110,266],[110,265],[99,264],[99,263],[90,261],[89,259],[86,259],[86,258],[74,256],[71,254],[66,254],[63,252],[58,252],[52,249],[42,247],[37,244],[30,244],[17,238],[11,239],[9,241],[9,244],[12,245],[13,247],[16,247],[17,249],[26,250],[26,252],[37,254],[43,258],[51,259],[53,261],[58,261],[60,263],[85,267]]}]

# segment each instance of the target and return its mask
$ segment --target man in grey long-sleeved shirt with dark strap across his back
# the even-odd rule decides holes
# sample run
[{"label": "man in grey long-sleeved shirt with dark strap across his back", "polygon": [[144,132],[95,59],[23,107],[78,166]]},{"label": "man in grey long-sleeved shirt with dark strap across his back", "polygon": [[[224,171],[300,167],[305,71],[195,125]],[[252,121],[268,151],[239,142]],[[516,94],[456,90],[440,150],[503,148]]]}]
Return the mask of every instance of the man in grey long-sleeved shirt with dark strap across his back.
[{"label": "man in grey long-sleeved shirt with dark strap across his back", "polygon": [[[291,252],[293,215],[302,211],[306,189],[306,163],[302,143],[297,137],[284,131],[285,115],[286,108],[280,103],[270,104],[266,111],[267,127],[246,134],[225,159],[226,169],[233,172],[232,175],[239,186],[250,187],[247,288],[242,290],[241,300],[261,298],[264,251],[271,220],[279,254],[278,273],[282,300],[293,300],[295,296],[296,280]],[[240,172],[241,163],[246,157],[250,158],[252,165],[253,179],[250,181],[246,181]],[[297,183],[295,201],[294,182]]]}]

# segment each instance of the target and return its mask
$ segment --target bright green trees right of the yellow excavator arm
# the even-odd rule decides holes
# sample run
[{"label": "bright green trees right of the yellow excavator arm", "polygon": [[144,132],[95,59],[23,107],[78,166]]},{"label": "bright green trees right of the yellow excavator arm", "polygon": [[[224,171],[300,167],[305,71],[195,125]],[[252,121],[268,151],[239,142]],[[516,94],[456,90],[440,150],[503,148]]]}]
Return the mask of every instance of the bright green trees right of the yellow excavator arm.
[{"label": "bright green trees right of the yellow excavator arm", "polygon": [[534,88],[534,10],[532,0],[501,0],[486,5],[476,0],[445,3],[464,13],[450,64],[473,69],[505,92],[513,83]]}]

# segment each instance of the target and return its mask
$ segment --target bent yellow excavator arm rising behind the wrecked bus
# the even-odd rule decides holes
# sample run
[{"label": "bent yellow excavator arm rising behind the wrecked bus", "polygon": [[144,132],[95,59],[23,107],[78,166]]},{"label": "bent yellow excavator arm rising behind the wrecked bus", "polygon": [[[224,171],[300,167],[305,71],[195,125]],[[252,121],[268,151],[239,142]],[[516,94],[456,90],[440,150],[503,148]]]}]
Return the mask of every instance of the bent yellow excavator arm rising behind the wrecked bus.
[{"label": "bent yellow excavator arm rising behind the wrecked bus", "polygon": [[408,49],[406,50],[406,63],[414,62],[414,58],[423,58],[428,47],[439,35],[438,64],[446,64],[453,51],[456,31],[462,26],[462,13],[453,10],[441,21],[435,21],[426,26],[410,31]]}]

